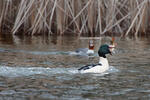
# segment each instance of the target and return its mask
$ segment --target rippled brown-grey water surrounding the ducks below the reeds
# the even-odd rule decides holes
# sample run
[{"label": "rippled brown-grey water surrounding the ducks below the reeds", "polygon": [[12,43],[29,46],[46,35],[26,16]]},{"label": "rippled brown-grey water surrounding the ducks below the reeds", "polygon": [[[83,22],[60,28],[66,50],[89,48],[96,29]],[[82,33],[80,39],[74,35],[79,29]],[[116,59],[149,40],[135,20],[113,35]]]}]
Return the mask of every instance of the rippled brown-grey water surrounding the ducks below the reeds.
[{"label": "rippled brown-grey water surrounding the ducks below the reeds", "polygon": [[149,100],[149,37],[116,37],[107,72],[78,73],[98,62],[99,45],[110,39],[94,39],[95,54],[89,57],[74,52],[88,47],[81,37],[1,36],[0,100]]}]

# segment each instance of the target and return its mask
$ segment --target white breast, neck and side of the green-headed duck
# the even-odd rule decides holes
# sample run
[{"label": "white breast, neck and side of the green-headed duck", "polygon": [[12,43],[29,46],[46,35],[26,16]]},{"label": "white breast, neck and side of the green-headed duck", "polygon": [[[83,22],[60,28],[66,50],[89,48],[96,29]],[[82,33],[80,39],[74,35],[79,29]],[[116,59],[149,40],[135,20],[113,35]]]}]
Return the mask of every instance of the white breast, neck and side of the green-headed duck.
[{"label": "white breast, neck and side of the green-headed duck", "polygon": [[90,69],[82,70],[81,73],[103,73],[109,69],[107,58],[100,57],[99,63],[101,65],[96,65]]}]

